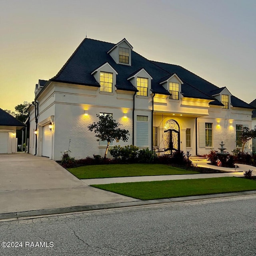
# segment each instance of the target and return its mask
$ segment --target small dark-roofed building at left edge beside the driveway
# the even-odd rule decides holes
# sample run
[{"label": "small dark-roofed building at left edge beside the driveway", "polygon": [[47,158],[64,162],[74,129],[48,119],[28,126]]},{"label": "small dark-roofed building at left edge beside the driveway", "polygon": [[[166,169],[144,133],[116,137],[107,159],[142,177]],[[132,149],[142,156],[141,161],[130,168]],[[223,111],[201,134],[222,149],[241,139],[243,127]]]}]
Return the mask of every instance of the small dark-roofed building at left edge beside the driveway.
[{"label": "small dark-roofed building at left edge beside the driveway", "polygon": [[0,108],[0,153],[16,153],[16,130],[25,127],[22,122]]}]

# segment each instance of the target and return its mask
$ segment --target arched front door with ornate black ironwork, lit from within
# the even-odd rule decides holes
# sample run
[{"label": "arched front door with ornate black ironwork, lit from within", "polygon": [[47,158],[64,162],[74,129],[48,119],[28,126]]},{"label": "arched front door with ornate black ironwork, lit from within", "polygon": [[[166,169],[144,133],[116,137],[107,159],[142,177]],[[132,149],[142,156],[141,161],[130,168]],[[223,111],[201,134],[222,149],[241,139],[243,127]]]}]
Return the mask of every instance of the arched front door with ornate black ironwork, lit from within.
[{"label": "arched front door with ornate black ironwork, lit from within", "polygon": [[180,127],[175,120],[168,120],[164,126],[164,154],[172,155],[180,150]]}]

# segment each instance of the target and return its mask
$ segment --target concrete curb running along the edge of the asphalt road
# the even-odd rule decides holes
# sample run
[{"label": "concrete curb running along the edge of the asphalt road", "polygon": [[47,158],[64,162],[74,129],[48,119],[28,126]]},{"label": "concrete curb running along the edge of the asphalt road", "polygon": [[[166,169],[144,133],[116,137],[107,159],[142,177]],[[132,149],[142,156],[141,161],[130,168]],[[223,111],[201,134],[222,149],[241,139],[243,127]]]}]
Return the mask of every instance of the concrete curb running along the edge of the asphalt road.
[{"label": "concrete curb running along the edge of the asphalt road", "polygon": [[170,203],[170,202],[186,202],[186,201],[193,201],[193,200],[223,198],[223,197],[231,197],[231,196],[246,196],[246,195],[253,195],[253,194],[256,194],[256,190],[222,193],[222,194],[210,194],[210,195],[202,195],[202,196],[185,196],[185,197],[165,198],[165,199],[156,199],[156,200],[144,200],[144,201],[141,200],[141,201],[132,201],[132,202],[110,203],[110,204],[73,206],[73,207],[46,209],[46,210],[33,210],[33,211],[26,211],[26,212],[11,212],[11,213],[0,214],[0,220],[18,219],[18,218],[33,217],[33,216],[35,217],[35,216],[43,216],[43,215],[50,215],[50,214],[63,214],[63,213],[71,214],[72,212],[84,212],[84,211],[90,211],[90,210],[106,210],[111,208],[164,204],[164,203]]}]

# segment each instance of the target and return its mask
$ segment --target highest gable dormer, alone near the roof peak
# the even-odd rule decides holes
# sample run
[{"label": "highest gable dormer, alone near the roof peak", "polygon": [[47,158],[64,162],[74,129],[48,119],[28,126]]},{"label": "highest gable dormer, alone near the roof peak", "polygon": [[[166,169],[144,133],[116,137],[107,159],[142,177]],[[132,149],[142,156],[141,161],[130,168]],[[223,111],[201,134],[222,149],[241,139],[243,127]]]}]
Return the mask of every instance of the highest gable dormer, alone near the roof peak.
[{"label": "highest gable dormer, alone near the roof peak", "polygon": [[116,64],[122,64],[131,66],[132,65],[132,49],[133,47],[124,38],[117,44],[115,44],[109,51],[108,54],[116,62]]}]

